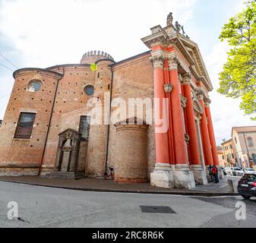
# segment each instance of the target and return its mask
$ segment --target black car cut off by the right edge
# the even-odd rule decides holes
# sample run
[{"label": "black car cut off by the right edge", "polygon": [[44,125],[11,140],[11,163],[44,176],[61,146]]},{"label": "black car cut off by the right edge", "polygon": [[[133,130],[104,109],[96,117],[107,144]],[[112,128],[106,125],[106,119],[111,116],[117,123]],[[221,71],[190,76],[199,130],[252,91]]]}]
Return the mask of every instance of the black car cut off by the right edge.
[{"label": "black car cut off by the right edge", "polygon": [[244,174],[239,181],[237,189],[245,199],[256,197],[256,175],[252,173]]}]

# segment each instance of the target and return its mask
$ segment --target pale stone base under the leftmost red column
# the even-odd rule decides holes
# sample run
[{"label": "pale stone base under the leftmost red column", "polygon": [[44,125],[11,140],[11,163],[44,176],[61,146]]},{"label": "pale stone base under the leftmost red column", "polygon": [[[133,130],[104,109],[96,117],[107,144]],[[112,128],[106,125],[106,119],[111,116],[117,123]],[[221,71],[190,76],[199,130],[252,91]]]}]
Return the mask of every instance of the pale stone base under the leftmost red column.
[{"label": "pale stone base under the leftmost red column", "polygon": [[157,188],[174,188],[171,165],[168,163],[156,163],[155,169],[150,174],[150,185]]}]

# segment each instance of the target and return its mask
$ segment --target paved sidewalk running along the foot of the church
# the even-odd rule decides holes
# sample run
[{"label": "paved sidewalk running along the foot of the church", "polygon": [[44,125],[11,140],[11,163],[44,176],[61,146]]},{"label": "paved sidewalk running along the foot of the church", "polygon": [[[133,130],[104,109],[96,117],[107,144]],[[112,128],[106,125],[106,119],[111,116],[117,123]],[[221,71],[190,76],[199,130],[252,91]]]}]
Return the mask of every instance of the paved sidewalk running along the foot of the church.
[{"label": "paved sidewalk running along the foot of the church", "polygon": [[237,195],[230,193],[226,180],[219,184],[210,183],[208,185],[198,185],[192,190],[188,189],[165,189],[150,186],[150,183],[116,183],[115,181],[82,178],[79,180],[72,179],[49,179],[40,176],[21,176],[21,177],[0,177],[0,181],[8,181],[27,185],[46,186],[49,188],[65,188],[79,191],[105,191],[105,192],[126,192],[142,194],[179,194],[189,196],[230,196]]}]

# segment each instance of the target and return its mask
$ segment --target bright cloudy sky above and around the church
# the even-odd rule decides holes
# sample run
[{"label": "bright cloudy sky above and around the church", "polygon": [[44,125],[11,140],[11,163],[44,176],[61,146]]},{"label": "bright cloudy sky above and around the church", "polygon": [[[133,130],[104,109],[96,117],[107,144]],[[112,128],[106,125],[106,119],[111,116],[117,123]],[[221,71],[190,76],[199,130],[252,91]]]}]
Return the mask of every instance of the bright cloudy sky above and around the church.
[{"label": "bright cloudy sky above and around the church", "polygon": [[[221,27],[242,10],[243,0],[0,0],[0,53],[17,68],[46,68],[79,63],[84,52],[99,49],[115,61],[147,51],[141,38],[150,27],[165,27],[166,16],[198,43],[215,91],[210,96],[217,143],[228,139],[232,126],[254,125],[239,110],[239,100],[216,93],[218,73],[226,61]],[[12,67],[0,56],[0,64]],[[0,119],[14,80],[0,66]]]}]

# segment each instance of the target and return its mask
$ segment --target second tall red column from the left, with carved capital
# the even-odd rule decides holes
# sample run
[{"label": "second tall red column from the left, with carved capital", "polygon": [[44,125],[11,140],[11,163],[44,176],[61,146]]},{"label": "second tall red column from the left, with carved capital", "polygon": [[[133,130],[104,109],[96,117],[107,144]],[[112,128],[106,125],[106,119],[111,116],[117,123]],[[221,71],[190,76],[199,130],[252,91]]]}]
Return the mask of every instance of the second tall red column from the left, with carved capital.
[{"label": "second tall red column from the left, with carved capital", "polygon": [[173,137],[175,147],[175,164],[187,164],[185,132],[182,119],[182,103],[180,96],[178,62],[174,59],[169,60],[169,75],[173,85],[171,102],[172,102],[172,119],[173,119]]}]

